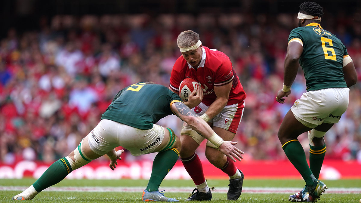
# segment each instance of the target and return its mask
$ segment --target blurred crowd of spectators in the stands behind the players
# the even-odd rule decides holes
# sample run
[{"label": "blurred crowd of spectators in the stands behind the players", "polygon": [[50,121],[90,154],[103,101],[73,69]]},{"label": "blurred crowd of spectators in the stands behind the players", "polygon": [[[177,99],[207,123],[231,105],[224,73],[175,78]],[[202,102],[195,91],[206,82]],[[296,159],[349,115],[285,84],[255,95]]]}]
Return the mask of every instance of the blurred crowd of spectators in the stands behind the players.
[{"label": "blurred crowd of spectators in the stands behind the players", "polygon": [[[327,15],[322,27],[345,44],[361,76],[361,13]],[[55,16],[39,30],[10,29],[0,40],[0,161],[51,163],[68,155],[100,121],[122,88],[140,81],[169,86],[181,56],[176,39],[184,30],[200,34],[203,46],[230,57],[247,92],[235,141],[245,160],[284,160],[277,131],[293,102],[305,91],[300,68],[285,104],[283,62],[296,14],[160,14],[147,16]],[[145,98],[146,99],[146,98]],[[361,161],[361,84],[350,91],[347,112],[326,134],[326,159]],[[160,125],[177,135],[175,116]],[[308,138],[299,137],[306,153]],[[205,159],[204,143],[199,155]],[[126,161],[148,159],[145,155]],[[105,159],[104,157],[102,159]],[[149,158],[151,159],[151,157]]]}]

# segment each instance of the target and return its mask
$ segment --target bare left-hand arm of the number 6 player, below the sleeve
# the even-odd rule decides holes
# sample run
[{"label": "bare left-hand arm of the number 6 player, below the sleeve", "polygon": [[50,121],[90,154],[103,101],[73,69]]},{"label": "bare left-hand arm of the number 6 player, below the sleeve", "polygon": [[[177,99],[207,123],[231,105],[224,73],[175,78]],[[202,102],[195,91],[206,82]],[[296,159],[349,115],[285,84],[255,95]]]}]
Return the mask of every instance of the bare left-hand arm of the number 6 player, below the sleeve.
[{"label": "bare left-hand arm of the number 6 player, below the sleeve", "polygon": [[299,67],[299,59],[303,52],[303,46],[298,42],[291,42],[287,47],[286,59],[284,59],[283,83],[291,86],[296,78]]}]

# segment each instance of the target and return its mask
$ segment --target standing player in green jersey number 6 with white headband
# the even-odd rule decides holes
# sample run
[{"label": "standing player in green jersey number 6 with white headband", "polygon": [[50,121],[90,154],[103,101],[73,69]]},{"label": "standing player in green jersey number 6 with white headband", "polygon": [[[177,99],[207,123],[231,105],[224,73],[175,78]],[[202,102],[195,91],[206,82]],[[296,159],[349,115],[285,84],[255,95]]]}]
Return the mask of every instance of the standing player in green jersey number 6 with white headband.
[{"label": "standing player in green jersey number 6 with white headband", "polygon": [[[326,144],[323,136],[339,122],[348,106],[349,88],[355,85],[357,74],[346,47],[321,25],[323,9],[314,2],[304,2],[298,13],[299,27],[291,31],[284,61],[283,88],[276,100],[283,104],[284,97],[291,94],[299,64],[301,65],[307,91],[297,99],[284,117],[278,138],[288,159],[300,172],[305,187],[289,200],[316,202],[327,189],[318,180]],[[308,131],[310,166],[297,137]]]}]

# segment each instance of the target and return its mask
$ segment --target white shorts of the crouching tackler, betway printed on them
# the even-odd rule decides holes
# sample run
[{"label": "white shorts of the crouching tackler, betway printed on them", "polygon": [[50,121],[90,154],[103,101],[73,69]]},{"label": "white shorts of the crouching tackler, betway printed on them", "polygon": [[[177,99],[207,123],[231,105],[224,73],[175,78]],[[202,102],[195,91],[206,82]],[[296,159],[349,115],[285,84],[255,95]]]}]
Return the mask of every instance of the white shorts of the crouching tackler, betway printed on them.
[{"label": "white shorts of the crouching tackler, betway printed on them", "polygon": [[90,149],[96,154],[104,155],[115,147],[122,146],[133,156],[139,156],[155,152],[164,139],[164,129],[153,124],[153,128],[142,130],[103,119],[87,136]]}]

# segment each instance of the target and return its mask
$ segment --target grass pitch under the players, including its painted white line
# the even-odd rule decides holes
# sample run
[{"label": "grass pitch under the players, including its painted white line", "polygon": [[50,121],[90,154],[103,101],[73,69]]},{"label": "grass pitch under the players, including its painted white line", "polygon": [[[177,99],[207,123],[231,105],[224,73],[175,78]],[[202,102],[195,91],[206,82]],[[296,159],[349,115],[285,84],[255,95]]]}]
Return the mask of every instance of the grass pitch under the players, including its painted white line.
[{"label": "grass pitch under the players, including its painted white line", "polygon": [[[0,202],[13,202],[13,195],[20,193],[30,186],[34,179],[0,179]],[[212,193],[212,202],[229,203],[227,200],[226,189],[228,180],[208,180],[210,187],[215,187]],[[361,180],[326,180],[329,191],[321,196],[318,201],[335,203],[358,203],[361,198]],[[141,202],[142,191],[147,185],[147,180],[63,180],[52,186],[52,190],[44,190],[36,195],[31,202]],[[191,180],[165,180],[160,186],[160,190],[167,189],[165,196],[176,198],[184,202],[192,192],[193,182]],[[243,183],[243,193],[236,202],[288,202],[287,188],[291,190],[300,190],[304,186],[302,180],[248,180],[247,177]],[[70,188],[71,187],[71,188]],[[176,187],[174,189],[174,187]],[[84,191],[92,188],[92,190]],[[169,189],[172,188],[172,189]],[[179,188],[179,189],[177,189]],[[265,189],[266,193],[253,193],[252,189]],[[337,188],[340,190],[332,190]],[[62,191],[62,189],[67,191]],[[97,190],[98,189],[98,190]],[[110,190],[111,189],[111,190]],[[119,191],[117,191],[119,189]],[[124,190],[125,189],[125,190]],[[129,190],[127,190],[129,189]],[[218,189],[218,190],[217,190]],[[286,189],[286,190],[285,190]],[[110,191],[107,191],[110,190]],[[139,190],[139,191],[138,191]],[[173,190],[173,191],[171,191]],[[136,191],[136,192],[134,192]],[[179,192],[181,191],[181,192]],[[247,192],[248,191],[248,192]],[[257,190],[258,191],[258,190]],[[256,191],[256,192],[257,192]],[[340,192],[343,191],[343,192]],[[344,194],[351,191],[352,194]]]}]

